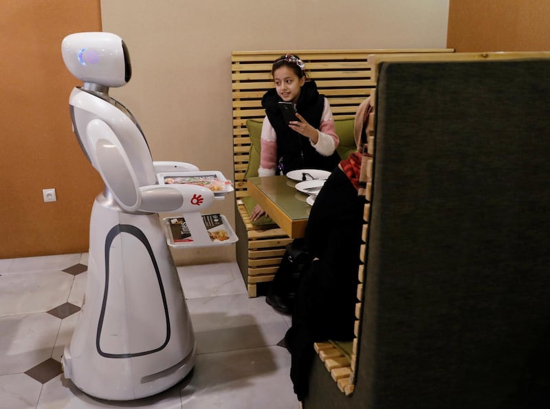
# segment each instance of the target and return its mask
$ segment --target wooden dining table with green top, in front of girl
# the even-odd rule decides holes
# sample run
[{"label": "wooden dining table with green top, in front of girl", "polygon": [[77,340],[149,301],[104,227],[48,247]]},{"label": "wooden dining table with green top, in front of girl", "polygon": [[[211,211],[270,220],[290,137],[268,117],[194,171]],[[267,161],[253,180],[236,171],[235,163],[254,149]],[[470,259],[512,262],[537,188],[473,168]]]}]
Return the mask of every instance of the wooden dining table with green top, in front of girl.
[{"label": "wooden dining table with green top, in front of girl", "polygon": [[286,176],[249,177],[248,194],[292,239],[303,237],[311,206],[307,195],[298,192],[293,181]]}]

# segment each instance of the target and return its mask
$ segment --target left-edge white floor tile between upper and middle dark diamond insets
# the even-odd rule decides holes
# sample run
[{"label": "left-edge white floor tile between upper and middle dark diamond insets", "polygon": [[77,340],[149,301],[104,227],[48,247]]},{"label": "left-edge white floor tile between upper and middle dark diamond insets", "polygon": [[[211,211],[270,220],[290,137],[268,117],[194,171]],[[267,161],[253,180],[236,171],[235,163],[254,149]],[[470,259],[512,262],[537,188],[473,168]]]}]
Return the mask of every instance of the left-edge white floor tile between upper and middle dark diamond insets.
[{"label": "left-edge white floor tile between upper and middle dark diamond insets", "polygon": [[74,276],[31,272],[0,276],[0,316],[48,311],[67,302]]}]

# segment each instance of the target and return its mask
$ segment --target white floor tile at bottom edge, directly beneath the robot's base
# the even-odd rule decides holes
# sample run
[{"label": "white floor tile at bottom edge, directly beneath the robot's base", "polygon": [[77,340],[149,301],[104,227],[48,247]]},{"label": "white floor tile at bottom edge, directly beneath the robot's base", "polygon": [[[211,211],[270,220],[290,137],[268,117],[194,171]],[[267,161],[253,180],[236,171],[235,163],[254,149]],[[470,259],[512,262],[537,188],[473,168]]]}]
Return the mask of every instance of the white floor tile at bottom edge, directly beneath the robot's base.
[{"label": "white floor tile at bottom edge, directly beneath the robot's base", "polygon": [[63,375],[58,375],[43,386],[37,409],[140,408],[181,409],[179,386],[174,386],[153,397],[135,401],[104,401],[90,397],[74,386]]}]

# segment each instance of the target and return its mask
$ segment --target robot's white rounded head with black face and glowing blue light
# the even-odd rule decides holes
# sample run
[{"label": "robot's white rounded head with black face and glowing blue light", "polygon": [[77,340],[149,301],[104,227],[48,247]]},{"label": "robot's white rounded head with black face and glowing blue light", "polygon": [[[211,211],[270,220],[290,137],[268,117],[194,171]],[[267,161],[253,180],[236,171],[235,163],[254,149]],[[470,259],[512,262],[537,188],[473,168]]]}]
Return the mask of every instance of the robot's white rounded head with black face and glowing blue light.
[{"label": "robot's white rounded head with black face and glowing blue light", "polygon": [[67,69],[83,82],[122,87],[132,76],[128,49],[116,34],[69,34],[61,43],[61,53]]}]

